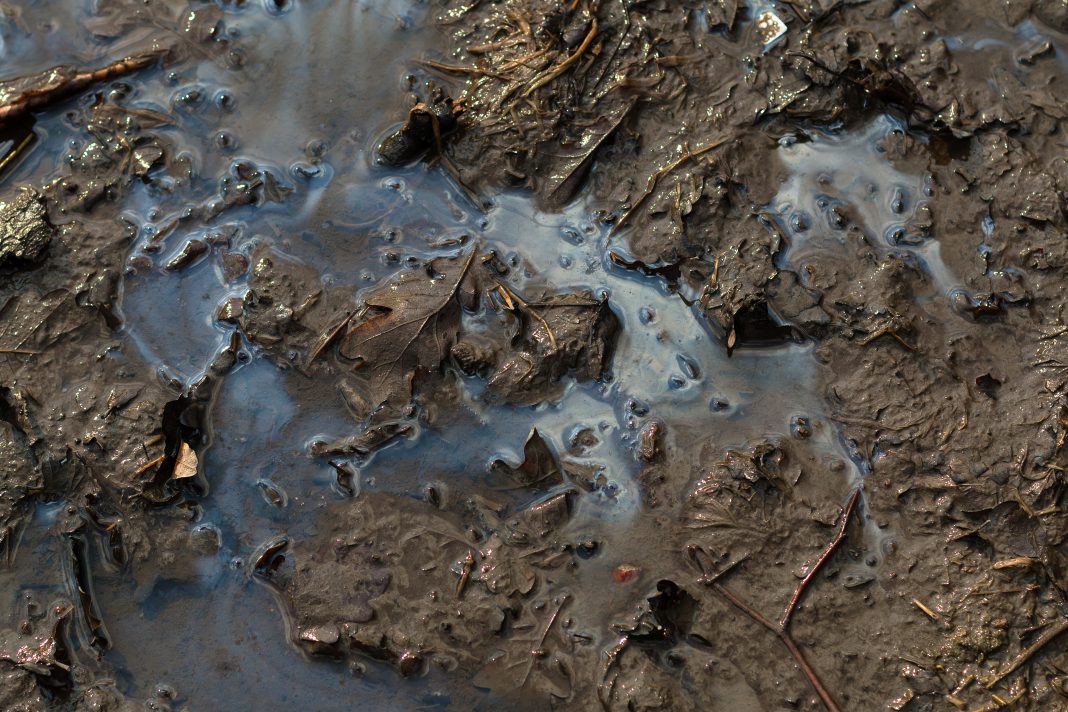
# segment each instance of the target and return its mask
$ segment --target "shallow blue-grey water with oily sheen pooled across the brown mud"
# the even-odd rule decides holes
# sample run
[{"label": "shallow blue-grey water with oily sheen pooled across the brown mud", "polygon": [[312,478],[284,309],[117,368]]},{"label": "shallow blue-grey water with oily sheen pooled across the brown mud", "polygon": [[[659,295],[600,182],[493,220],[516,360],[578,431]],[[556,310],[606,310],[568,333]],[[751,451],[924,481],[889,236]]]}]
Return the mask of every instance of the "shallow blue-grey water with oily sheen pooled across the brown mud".
[{"label": "shallow blue-grey water with oily sheen pooled across the brown mud", "polygon": [[[601,543],[602,553],[574,573],[572,585],[579,602],[574,615],[599,631],[599,643],[613,635],[612,616],[633,603],[632,588],[608,585],[611,571],[631,564],[649,570],[643,575],[657,575],[660,552],[648,551],[640,536],[646,523],[639,511],[633,449],[644,424],[659,421],[669,450],[694,454],[694,461],[674,466],[689,466],[696,478],[703,445],[722,452],[764,437],[789,437],[791,421],[804,416],[826,457],[846,463],[848,479],[860,477],[863,463],[850,460],[827,420],[811,347],[787,343],[728,355],[722,337],[701,326],[704,320],[666,284],[611,262],[607,232],[581,199],[546,213],[528,196],[500,194],[489,196],[484,211],[437,170],[374,164],[376,138],[403,115],[408,59],[423,46],[431,51],[436,42],[431,31],[412,29],[424,25],[422,3],[286,6],[279,14],[256,2],[225,14],[226,31],[241,37],[248,50],[239,74],[192,52],[175,66],[129,82],[131,106],[175,116],[175,126],[164,131],[192,167],[192,177],[172,192],[139,188],[122,205],[137,236],[123,283],[121,339],[146,373],[189,384],[227,341],[231,329],[216,313],[224,300],[245,292],[245,283],[227,283],[209,258],[179,271],[164,266],[187,239],[218,228],[211,221],[187,220],[185,211],[208,200],[235,161],[251,160],[271,169],[293,192],[283,203],[238,208],[218,221],[240,228],[235,252],[269,246],[313,267],[326,284],[359,296],[396,270],[388,253],[453,254],[453,248],[435,246],[467,236],[478,249],[521,265],[520,288],[588,288],[609,298],[623,331],[604,383],[571,384],[559,402],[512,408],[485,405],[480,385],[466,381],[460,404],[440,427],[421,426],[414,437],[355,463],[362,490],[423,496],[428,485],[444,484],[450,496],[511,496],[492,489],[488,465],[497,459],[520,461],[531,428],[557,453],[571,433],[593,429],[599,442],[578,459],[599,469],[603,482],[582,495],[564,535]],[[28,21],[47,21],[49,7],[34,5]],[[99,63],[139,39],[101,43],[78,29],[77,13],[58,15],[51,36],[66,38],[59,46],[46,47],[34,33],[3,35],[7,66]],[[185,101],[193,91],[202,98]],[[41,116],[36,130],[38,146],[9,181],[47,181],[57,173],[60,148],[77,153],[69,142],[88,140],[64,122],[61,110]],[[788,220],[802,212],[826,220],[832,203],[849,203],[874,234],[890,235],[923,201],[922,176],[902,174],[864,153],[894,130],[899,128],[892,121],[879,120],[848,137],[820,135],[785,146],[782,156],[794,174],[776,209]],[[855,162],[861,153],[867,160]],[[319,158],[317,173],[307,175],[302,169]],[[832,177],[824,186],[827,175]],[[898,193],[907,204],[900,210],[894,207]],[[175,220],[178,227],[158,238]],[[796,231],[785,259],[804,257],[807,240],[815,239],[804,233]],[[158,251],[146,251],[157,243]],[[906,249],[927,264],[937,283],[952,282],[937,243]],[[310,444],[348,434],[354,424],[335,384],[282,370],[254,346],[244,348],[248,362],[225,378],[213,412],[210,445],[201,454],[209,491],[190,522],[191,535],[204,527],[218,533],[218,553],[190,552],[166,567],[139,563],[124,571],[110,565],[96,543],[88,545],[85,564],[110,642],[106,659],[122,671],[121,689],[145,697],[159,684],[170,685],[192,709],[210,709],[219,699],[264,709],[341,710],[351,709],[354,700],[368,709],[469,709],[468,681],[429,676],[402,683],[371,663],[354,674],[309,661],[286,642],[278,602],[250,579],[249,561],[272,537],[316,531],[325,506],[342,494],[332,466],[314,457]],[[0,574],[9,601],[27,588],[48,596],[72,592],[69,576],[57,576],[53,565],[68,556],[57,536],[60,515],[42,508],[14,566]],[[488,698],[482,703],[491,706]]]}]

